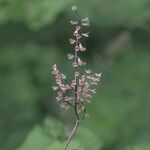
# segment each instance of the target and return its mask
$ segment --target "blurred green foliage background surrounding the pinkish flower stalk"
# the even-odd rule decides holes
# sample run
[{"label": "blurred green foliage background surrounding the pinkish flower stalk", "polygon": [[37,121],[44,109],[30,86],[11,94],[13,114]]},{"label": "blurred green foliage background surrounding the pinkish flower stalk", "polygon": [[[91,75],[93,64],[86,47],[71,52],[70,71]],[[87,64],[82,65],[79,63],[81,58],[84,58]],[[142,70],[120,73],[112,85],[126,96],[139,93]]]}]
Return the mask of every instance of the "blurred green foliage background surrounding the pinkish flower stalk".
[{"label": "blurred green foliage background surrounding the pinkish flower stalk", "polygon": [[76,4],[90,18],[87,66],[103,72],[70,150],[150,150],[149,0],[0,0],[0,150],[62,150],[74,117],[55,102]]}]

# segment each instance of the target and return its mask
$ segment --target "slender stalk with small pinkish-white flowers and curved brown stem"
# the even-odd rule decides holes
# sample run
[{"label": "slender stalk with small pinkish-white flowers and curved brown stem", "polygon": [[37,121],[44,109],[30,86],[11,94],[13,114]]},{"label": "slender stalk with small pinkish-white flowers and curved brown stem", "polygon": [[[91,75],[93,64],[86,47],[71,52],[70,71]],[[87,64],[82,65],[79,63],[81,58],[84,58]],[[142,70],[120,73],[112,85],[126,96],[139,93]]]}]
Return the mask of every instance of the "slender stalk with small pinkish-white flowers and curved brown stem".
[{"label": "slender stalk with small pinkish-white flowers and curved brown stem", "polygon": [[[75,47],[74,54],[68,54],[68,59],[73,60],[74,79],[71,83],[66,83],[66,75],[59,71],[56,64],[52,66],[52,74],[56,79],[56,85],[52,86],[52,89],[56,92],[56,100],[60,103],[60,106],[66,110],[70,107],[73,108],[76,117],[75,126],[68,137],[64,150],[67,150],[80,122],[88,116],[85,104],[91,103],[92,96],[96,93],[95,86],[101,78],[101,73],[92,73],[90,69],[84,69],[83,74],[79,72],[79,67],[85,67],[86,65],[86,62],[82,61],[78,54],[86,51],[86,48],[81,44],[81,38],[89,37],[89,33],[83,32],[83,27],[89,26],[89,19],[86,17],[80,20],[75,5],[72,6],[72,11],[75,12],[77,20],[70,21],[75,31],[73,38],[69,41],[70,44],[75,45]],[[68,93],[71,93],[71,95],[68,95]]]}]

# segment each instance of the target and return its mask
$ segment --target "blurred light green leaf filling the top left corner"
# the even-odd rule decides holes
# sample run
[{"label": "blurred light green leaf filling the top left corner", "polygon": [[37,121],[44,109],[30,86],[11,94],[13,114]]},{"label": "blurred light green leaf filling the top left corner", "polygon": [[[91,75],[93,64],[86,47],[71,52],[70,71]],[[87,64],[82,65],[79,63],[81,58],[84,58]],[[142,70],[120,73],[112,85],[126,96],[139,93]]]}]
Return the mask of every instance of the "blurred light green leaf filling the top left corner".
[{"label": "blurred light green leaf filling the top left corner", "polygon": [[24,22],[32,29],[53,23],[69,1],[60,0],[8,0],[0,2],[0,23]]}]

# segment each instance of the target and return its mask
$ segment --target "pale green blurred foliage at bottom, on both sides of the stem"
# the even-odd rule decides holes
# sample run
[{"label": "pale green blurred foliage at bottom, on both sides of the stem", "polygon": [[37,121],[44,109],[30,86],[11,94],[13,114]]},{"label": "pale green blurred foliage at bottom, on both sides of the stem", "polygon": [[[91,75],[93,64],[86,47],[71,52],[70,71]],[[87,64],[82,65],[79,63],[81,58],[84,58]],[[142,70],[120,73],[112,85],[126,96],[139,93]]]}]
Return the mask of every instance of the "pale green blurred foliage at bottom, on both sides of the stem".
[{"label": "pale green blurred foliage at bottom, on both sides of the stem", "polygon": [[[66,143],[64,126],[52,118],[45,119],[41,126],[36,126],[29,133],[23,145],[17,150],[60,150]],[[79,128],[69,144],[68,150],[80,149],[99,150],[102,144],[88,129]]]}]

